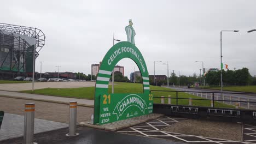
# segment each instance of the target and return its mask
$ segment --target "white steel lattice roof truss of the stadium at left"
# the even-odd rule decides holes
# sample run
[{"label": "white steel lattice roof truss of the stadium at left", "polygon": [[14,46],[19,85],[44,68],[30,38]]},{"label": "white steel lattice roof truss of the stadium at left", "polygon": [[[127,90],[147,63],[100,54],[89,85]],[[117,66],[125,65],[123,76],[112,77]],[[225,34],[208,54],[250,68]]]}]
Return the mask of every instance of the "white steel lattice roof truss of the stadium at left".
[{"label": "white steel lattice roof truss of the stadium at left", "polygon": [[16,34],[24,35],[26,37],[35,38],[36,39],[35,57],[38,57],[39,51],[42,49],[45,43],[45,35],[38,28],[0,23],[0,31],[16,33]]}]

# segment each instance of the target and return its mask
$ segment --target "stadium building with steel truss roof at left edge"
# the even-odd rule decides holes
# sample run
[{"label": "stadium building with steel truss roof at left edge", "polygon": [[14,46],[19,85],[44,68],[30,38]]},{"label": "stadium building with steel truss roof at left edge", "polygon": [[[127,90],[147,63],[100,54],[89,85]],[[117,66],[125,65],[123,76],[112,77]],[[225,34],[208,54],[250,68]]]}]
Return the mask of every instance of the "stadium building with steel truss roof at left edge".
[{"label": "stadium building with steel truss roof at left edge", "polygon": [[33,56],[38,57],[44,41],[38,28],[0,23],[0,79],[32,77]]}]

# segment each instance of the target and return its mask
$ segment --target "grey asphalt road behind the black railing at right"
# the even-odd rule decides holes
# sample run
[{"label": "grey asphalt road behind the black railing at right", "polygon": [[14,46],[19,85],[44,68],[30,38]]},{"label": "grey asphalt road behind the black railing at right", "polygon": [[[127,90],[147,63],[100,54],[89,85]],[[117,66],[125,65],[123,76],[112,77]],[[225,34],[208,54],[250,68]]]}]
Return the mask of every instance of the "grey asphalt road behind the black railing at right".
[{"label": "grey asphalt road behind the black railing at right", "polygon": [[[212,99],[211,93],[204,93],[204,92],[214,92],[214,100],[239,100],[240,101],[251,101],[249,103],[250,109],[256,109],[256,103],[252,103],[252,101],[256,102],[256,94],[247,94],[244,92],[231,92],[231,91],[223,91],[223,95],[221,95],[220,90],[215,89],[200,89],[200,88],[188,88],[188,87],[170,87],[172,89],[175,89],[176,91],[188,91],[190,94],[197,95],[202,98]],[[198,94],[197,94],[198,93]],[[224,96],[224,98],[223,98]],[[219,101],[220,103],[223,103],[223,101]],[[232,104],[235,105],[237,102],[230,102],[225,101],[225,104]],[[241,107],[248,108],[248,103],[241,102]]]}]

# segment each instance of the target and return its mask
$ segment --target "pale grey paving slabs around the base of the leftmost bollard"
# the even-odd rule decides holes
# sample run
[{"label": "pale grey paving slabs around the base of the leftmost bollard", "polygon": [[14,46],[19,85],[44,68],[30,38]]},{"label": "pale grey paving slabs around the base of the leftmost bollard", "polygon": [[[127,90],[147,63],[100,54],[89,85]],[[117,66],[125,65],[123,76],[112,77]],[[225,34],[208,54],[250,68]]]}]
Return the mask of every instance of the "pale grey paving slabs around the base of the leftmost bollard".
[{"label": "pale grey paving slabs around the base of the leftmost bollard", "polygon": [[[67,127],[68,124],[66,123],[47,121],[38,118],[34,119],[34,134]],[[3,123],[0,129],[0,141],[23,136],[23,133],[24,116],[4,113]]]}]

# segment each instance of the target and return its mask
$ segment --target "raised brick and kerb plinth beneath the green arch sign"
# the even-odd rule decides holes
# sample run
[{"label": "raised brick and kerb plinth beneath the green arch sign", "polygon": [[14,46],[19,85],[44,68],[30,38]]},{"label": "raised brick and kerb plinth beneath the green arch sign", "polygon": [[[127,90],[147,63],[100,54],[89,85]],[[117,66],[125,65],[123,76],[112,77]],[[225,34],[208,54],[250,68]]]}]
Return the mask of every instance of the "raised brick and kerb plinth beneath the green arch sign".
[{"label": "raised brick and kerb plinth beneath the green arch sign", "polygon": [[[138,119],[138,120],[130,122],[130,123],[127,122],[127,123],[119,124],[119,125],[115,125],[114,124],[115,122],[113,122],[113,126],[110,126],[110,127],[109,127],[109,125],[104,127],[104,125],[91,124],[90,121],[89,122],[81,122],[81,123],[79,123],[79,125],[83,126],[83,127],[90,127],[90,128],[95,128],[95,129],[102,129],[102,130],[108,130],[108,131],[117,131],[117,130],[120,130],[120,129],[132,127],[133,125],[137,125],[137,124],[145,123],[145,122],[148,122],[148,121],[152,121],[153,119],[159,118],[161,116],[164,116],[164,115],[158,114],[156,116],[152,116],[152,117],[149,117],[149,118]],[[109,123],[109,124],[111,124],[111,123]]]}]

